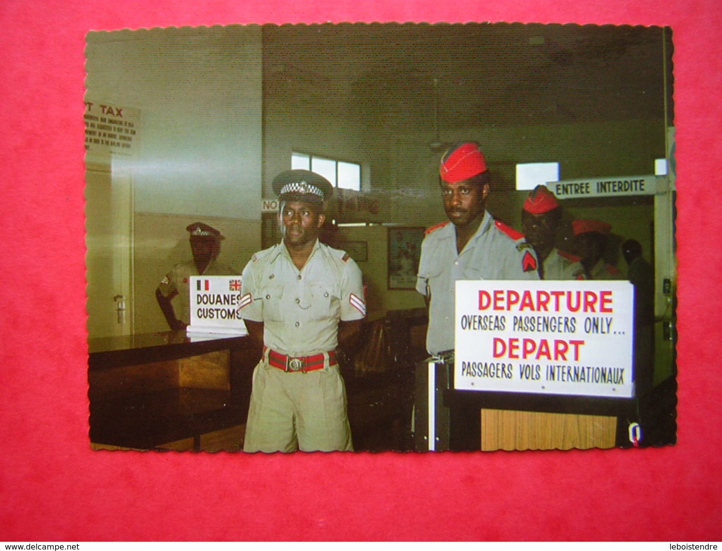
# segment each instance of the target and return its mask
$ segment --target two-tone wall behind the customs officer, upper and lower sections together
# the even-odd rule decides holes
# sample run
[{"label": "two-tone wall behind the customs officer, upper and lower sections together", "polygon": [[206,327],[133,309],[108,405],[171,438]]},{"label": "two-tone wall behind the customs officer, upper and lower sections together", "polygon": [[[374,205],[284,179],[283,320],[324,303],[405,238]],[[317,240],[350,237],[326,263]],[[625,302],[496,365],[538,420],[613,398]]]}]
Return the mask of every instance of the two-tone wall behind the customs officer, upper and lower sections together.
[{"label": "two-tone wall behind the customs officer, upper and lower sections together", "polygon": [[222,230],[238,272],[261,246],[261,27],[90,32],[86,57],[86,100],[140,112],[133,155],[110,162],[134,185],[133,330],[164,331],[155,288],[191,258],[186,225]]}]

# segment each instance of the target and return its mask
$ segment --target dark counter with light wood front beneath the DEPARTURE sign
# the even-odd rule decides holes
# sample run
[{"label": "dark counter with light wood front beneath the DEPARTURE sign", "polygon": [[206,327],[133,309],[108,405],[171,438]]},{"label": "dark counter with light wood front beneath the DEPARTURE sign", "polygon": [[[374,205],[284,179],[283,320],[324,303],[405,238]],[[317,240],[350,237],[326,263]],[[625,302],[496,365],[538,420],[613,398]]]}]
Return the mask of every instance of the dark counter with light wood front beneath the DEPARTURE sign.
[{"label": "dark counter with light wood front beneath the DEPARTURE sign", "polygon": [[[674,390],[668,387],[659,386],[643,399],[462,391],[453,389],[453,363],[419,363],[414,393],[415,446],[419,451],[631,446],[627,435],[630,422],[641,424],[644,418],[643,427],[661,424],[669,434],[676,402]],[[643,415],[653,409],[660,413]],[[648,441],[656,443],[659,438]]]}]

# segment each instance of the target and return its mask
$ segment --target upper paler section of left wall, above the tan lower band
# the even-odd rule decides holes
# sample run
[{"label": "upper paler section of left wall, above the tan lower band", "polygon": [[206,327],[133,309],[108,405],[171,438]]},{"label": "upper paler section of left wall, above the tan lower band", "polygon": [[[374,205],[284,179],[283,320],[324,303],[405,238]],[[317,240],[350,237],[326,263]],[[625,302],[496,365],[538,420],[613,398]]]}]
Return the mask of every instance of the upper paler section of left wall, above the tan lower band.
[{"label": "upper paler section of left wall, above the tan lower band", "polygon": [[259,220],[261,28],[90,32],[87,97],[141,110],[136,212]]}]

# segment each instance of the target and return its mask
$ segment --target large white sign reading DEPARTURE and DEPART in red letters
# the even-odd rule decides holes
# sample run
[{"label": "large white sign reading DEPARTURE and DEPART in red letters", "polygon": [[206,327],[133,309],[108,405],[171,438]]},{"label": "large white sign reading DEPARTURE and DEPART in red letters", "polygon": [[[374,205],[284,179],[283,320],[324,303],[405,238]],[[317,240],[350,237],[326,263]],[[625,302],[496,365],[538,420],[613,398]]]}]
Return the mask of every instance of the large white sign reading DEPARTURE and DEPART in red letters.
[{"label": "large white sign reading DEPARTURE and DEPART in red letters", "polygon": [[458,390],[630,398],[627,281],[458,281]]}]

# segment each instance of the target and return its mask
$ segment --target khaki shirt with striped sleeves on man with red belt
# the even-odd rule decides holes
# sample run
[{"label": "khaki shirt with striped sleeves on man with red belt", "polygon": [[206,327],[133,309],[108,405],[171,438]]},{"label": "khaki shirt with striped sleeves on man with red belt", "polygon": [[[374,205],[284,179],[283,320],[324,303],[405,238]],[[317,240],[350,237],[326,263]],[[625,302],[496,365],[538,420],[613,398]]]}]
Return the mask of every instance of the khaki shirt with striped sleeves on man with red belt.
[{"label": "khaki shirt with striped sleeves on man with red belt", "polygon": [[339,321],[366,314],[361,270],[318,240],[300,270],[284,243],[254,254],[243,269],[240,304],[241,317],[264,322],[264,344],[291,356],[334,350]]}]

